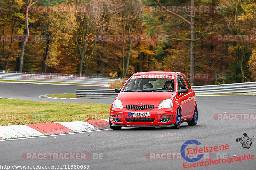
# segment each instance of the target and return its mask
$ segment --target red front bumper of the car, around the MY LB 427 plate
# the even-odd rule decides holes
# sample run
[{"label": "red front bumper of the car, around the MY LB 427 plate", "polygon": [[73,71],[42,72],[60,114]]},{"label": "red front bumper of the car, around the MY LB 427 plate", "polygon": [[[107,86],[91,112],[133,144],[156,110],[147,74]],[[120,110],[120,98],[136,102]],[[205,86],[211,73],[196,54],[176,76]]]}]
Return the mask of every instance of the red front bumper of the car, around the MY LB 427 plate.
[{"label": "red front bumper of the car, around the MY LB 427 plate", "polygon": [[[126,108],[110,109],[110,121],[112,126],[128,126],[128,127],[170,127],[174,126],[177,108],[168,109],[154,108],[152,110],[134,110],[132,112],[150,112],[150,117],[129,117],[129,112]],[[165,120],[164,122],[162,122]],[[168,120],[168,121],[167,121]]]}]

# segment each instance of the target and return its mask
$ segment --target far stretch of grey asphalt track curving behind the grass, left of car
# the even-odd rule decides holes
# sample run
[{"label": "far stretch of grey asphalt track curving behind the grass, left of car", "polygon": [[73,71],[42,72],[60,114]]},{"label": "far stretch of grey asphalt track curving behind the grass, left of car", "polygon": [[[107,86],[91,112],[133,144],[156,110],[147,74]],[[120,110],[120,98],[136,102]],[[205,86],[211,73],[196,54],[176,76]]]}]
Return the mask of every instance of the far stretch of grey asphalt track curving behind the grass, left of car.
[{"label": "far stretch of grey asphalt track curving behind the grass, left of car", "polygon": [[79,85],[51,85],[51,84],[31,84],[31,83],[1,83],[0,97],[50,102],[68,103],[108,103],[112,104],[114,98],[108,99],[47,99],[39,98],[44,94],[75,93],[76,89],[106,89],[107,87],[79,86]]}]

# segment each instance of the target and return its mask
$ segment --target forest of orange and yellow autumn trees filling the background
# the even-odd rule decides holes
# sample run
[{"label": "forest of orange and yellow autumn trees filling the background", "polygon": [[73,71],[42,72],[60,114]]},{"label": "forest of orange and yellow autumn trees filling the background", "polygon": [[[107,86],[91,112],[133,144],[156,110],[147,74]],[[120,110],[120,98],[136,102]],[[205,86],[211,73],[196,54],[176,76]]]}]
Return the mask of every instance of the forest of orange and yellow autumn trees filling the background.
[{"label": "forest of orange and yellow autumn trees filling the background", "polygon": [[[29,4],[79,6],[85,11],[22,10]],[[209,6],[213,10],[154,12],[150,11],[152,6]],[[2,0],[1,35],[29,33],[43,39],[1,40],[0,70],[100,73],[124,78],[138,71],[159,70],[228,75],[222,80],[191,79],[196,85],[252,81],[256,78],[255,42],[219,42],[215,38],[254,35],[255,11],[254,1],[239,0]],[[103,35],[147,35],[150,40],[92,41],[92,36]]]}]

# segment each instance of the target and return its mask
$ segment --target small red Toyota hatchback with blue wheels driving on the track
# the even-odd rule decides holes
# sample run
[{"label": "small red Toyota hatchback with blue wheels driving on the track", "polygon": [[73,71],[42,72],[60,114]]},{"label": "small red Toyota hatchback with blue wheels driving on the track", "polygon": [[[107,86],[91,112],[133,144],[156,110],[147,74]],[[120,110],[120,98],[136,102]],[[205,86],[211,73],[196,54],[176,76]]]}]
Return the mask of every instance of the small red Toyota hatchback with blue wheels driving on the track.
[{"label": "small red Toyota hatchback with blue wheels driving on the track", "polygon": [[114,100],[109,117],[113,130],[126,127],[180,128],[196,125],[198,110],[195,92],[180,72],[138,72],[133,74]]}]

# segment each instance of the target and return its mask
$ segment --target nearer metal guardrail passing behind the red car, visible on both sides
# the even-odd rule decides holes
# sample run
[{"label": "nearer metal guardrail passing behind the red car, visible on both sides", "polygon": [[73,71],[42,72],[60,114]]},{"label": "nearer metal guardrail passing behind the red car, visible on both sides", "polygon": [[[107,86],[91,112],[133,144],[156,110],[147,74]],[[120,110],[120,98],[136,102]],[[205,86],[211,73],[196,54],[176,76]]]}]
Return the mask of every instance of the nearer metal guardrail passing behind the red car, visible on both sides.
[{"label": "nearer metal guardrail passing behind the red car, visible on both sides", "polygon": [[[232,83],[223,85],[192,86],[196,94],[252,93],[256,92],[256,82]],[[116,97],[115,89],[82,90],[76,89],[76,97],[103,98]]]}]

